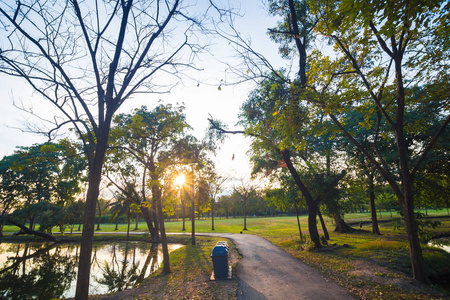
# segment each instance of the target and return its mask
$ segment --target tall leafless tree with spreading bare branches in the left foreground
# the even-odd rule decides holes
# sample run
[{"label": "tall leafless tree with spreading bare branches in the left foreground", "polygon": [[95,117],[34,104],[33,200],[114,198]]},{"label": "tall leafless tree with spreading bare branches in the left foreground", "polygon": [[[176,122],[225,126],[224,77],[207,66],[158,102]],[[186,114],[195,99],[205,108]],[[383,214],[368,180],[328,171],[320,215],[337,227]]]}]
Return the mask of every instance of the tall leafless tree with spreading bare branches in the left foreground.
[{"label": "tall leafless tree with spreading bare branches in the left foreground", "polygon": [[[214,6],[206,2],[205,13]],[[112,118],[133,95],[169,91],[183,70],[193,68],[203,49],[194,32],[205,29],[200,13],[189,15],[192,7],[180,0],[0,2],[6,37],[0,72],[22,78],[36,101],[56,107],[59,113],[50,118],[36,113],[49,138],[71,125],[89,162],[76,299],[87,299],[89,292],[95,207]],[[160,75],[175,81],[158,80]]]}]

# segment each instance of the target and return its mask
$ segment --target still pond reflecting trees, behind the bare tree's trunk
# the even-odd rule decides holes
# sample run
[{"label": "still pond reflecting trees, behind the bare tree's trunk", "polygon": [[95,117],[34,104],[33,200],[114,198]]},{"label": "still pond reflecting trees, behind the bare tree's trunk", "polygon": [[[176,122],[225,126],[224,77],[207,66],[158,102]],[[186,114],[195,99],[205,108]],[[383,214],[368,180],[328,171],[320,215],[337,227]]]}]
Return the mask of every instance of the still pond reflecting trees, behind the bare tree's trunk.
[{"label": "still pond reflecting trees, behind the bare tree's trunk", "polygon": [[[182,247],[169,245],[169,251]],[[0,299],[75,296],[79,244],[1,243]],[[162,262],[161,245],[144,242],[95,243],[89,294],[132,288]]]}]

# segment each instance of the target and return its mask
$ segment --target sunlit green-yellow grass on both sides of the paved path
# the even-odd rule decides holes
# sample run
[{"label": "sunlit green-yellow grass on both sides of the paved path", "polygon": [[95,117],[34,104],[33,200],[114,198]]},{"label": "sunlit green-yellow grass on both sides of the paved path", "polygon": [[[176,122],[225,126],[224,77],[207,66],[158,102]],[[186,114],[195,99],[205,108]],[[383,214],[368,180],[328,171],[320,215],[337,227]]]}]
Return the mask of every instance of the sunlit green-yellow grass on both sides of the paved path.
[{"label": "sunlit green-yellow grass on both sides of the paved path", "polygon": [[[437,216],[437,212],[428,211],[429,216]],[[398,215],[393,213],[393,217]],[[333,232],[334,225],[330,218],[325,218],[330,234],[328,246],[320,250],[312,249],[308,233],[307,216],[301,216],[300,222],[303,232],[303,240],[297,227],[295,216],[270,217],[270,218],[247,218],[247,231],[243,231],[244,220],[242,218],[215,218],[215,230],[211,230],[211,219],[195,220],[196,232],[200,233],[240,233],[255,234],[264,237],[281,247],[291,255],[301,259],[305,263],[320,270],[325,276],[330,277],[360,298],[364,299],[429,299],[430,293],[435,291],[404,290],[392,284],[375,283],[362,276],[355,276],[352,272],[357,268],[355,262],[364,262],[369,266],[379,266],[389,270],[389,278],[403,278],[409,280],[412,276],[411,263],[406,236],[403,232],[393,230],[390,213],[384,212],[379,219],[379,227],[382,235],[371,233],[370,214],[355,213],[345,215],[347,222],[358,229],[353,233],[341,234]],[[439,220],[442,226],[433,229],[436,234],[450,231],[450,217],[446,211],[440,212]],[[181,233],[182,221],[171,220],[165,223],[167,232]],[[361,227],[361,230],[359,230]],[[127,224],[119,224],[115,231],[115,224],[101,224],[101,230],[96,231],[96,238],[126,239]],[[140,222],[138,230],[133,230],[135,223],[130,224],[130,232],[148,232],[145,222]],[[77,229],[77,226],[75,226]],[[319,233],[322,236],[322,228],[318,223]],[[16,232],[17,227],[6,225],[4,232]],[[56,231],[56,230],[55,230]],[[66,230],[65,237],[69,237],[70,231]],[[116,234],[101,234],[102,232],[116,232]],[[191,232],[191,221],[186,219],[186,233]],[[75,234],[80,238],[80,234]],[[161,276],[166,287],[173,288],[175,295],[181,296],[184,292],[186,282],[194,280],[198,276],[207,276],[212,271],[210,251],[217,238],[198,237],[199,247],[190,246],[189,236],[170,235],[171,240],[183,237],[186,246],[171,254],[171,267],[173,275]],[[147,235],[134,235],[133,239],[148,240]],[[423,245],[423,254],[430,278],[448,278],[450,270],[450,254],[442,250]],[[202,274],[202,275],[200,275]],[[371,274],[384,278],[386,272],[372,270]],[[378,274],[378,276],[377,276]],[[391,275],[394,274],[394,275]],[[210,288],[210,289],[209,289]],[[211,286],[208,293],[213,295],[220,293],[220,287]],[[216,290],[218,289],[218,290]],[[383,295],[382,297],[380,297]],[[440,295],[440,294],[438,294]],[[436,298],[436,297],[435,297]],[[437,297],[439,298],[439,296]],[[444,297],[445,298],[445,297]]]}]

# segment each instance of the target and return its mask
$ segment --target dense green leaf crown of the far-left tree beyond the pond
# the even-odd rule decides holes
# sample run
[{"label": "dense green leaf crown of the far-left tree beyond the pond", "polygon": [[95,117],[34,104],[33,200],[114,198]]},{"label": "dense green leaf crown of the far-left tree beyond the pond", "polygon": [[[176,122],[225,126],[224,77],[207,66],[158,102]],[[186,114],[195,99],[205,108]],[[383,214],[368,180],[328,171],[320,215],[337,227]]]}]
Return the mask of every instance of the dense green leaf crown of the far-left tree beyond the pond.
[{"label": "dense green leaf crown of the far-left tree beyond the pond", "polygon": [[5,197],[65,205],[80,192],[86,161],[67,140],[23,147],[0,162]]}]

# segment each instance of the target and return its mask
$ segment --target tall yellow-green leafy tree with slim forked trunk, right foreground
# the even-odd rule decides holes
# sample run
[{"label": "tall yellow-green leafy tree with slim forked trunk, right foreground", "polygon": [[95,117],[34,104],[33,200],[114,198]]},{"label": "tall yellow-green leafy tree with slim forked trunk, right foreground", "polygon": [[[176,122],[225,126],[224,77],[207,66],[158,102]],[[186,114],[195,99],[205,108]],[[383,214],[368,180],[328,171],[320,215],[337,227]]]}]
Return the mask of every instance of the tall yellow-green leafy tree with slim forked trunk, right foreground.
[{"label": "tall yellow-green leafy tree with slim forked trunk, right foreground", "polygon": [[[324,69],[328,74],[325,78],[330,80],[327,91],[322,94],[326,95],[326,100],[322,98],[325,101],[320,103],[394,190],[402,206],[414,278],[426,282],[414,215],[414,177],[450,122],[450,115],[441,115],[440,125],[430,132],[426,141],[420,142],[420,151],[416,151],[417,144],[408,140],[408,133],[418,128],[426,131],[430,124],[423,122],[417,126],[417,123],[409,123],[405,115],[412,105],[429,102],[431,95],[438,99],[447,97],[448,84],[441,84],[448,83],[448,72],[444,71],[448,69],[448,47],[445,48],[446,42],[435,40],[442,30],[447,30],[448,24],[443,20],[448,18],[448,3],[397,1],[395,5],[386,6],[378,0],[342,1],[331,6],[325,2],[318,3],[313,10],[318,14],[324,13],[317,31],[331,37],[337,50],[331,68]],[[440,61],[439,68],[432,63],[436,59]],[[394,86],[388,85],[391,79]],[[427,84],[427,95],[411,97],[406,84],[423,82]],[[339,111],[346,109],[361,109],[376,115],[377,121],[372,126],[377,134],[371,147],[376,149],[378,140],[392,136],[398,171],[388,167],[389,160],[379,153],[373,156],[358,143],[352,132],[345,130],[345,121]],[[389,127],[388,131],[380,130],[382,120]]]}]

